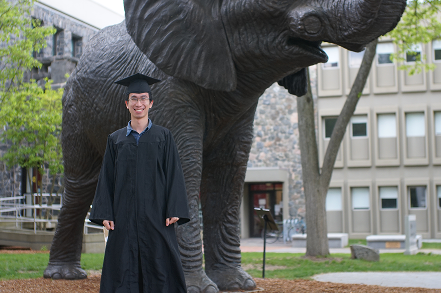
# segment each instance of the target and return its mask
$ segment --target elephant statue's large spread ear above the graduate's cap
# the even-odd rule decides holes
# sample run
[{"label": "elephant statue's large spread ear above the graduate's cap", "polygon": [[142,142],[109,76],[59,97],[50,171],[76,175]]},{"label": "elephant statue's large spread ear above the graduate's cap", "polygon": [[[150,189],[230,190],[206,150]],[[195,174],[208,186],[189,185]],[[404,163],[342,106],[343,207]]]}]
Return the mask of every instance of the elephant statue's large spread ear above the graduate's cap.
[{"label": "elephant statue's large spread ear above the graduate's cap", "polygon": [[124,0],[127,31],[168,75],[232,91],[236,71],[219,0]]}]

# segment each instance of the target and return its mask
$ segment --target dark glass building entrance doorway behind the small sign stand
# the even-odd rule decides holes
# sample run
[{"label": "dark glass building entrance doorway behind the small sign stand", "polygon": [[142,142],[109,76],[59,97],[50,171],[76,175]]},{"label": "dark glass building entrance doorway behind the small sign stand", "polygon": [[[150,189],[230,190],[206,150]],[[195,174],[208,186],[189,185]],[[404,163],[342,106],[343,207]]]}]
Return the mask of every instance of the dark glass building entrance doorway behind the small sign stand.
[{"label": "dark glass building entrance doorway behind the small sign stand", "polygon": [[250,237],[260,237],[263,225],[254,208],[269,209],[274,220],[283,220],[282,183],[249,185]]}]

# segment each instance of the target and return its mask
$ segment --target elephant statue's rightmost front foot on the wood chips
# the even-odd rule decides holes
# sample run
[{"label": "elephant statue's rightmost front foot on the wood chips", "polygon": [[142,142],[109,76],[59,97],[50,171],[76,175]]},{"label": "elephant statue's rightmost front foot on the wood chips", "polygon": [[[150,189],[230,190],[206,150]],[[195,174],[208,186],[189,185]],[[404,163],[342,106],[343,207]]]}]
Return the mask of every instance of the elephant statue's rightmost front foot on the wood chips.
[{"label": "elephant statue's rightmost front foot on the wood chips", "polygon": [[241,267],[216,266],[205,270],[207,276],[218,285],[221,291],[245,290],[256,288],[256,283]]}]

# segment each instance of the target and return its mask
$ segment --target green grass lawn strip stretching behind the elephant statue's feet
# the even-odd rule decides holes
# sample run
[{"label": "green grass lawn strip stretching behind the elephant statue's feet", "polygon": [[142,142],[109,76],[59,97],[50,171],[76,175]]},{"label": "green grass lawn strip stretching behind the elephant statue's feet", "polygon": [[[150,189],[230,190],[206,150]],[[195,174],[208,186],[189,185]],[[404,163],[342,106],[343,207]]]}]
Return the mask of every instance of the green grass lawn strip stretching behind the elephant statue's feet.
[{"label": "green grass lawn strip stretching behind the elephant statue's feet", "polygon": [[[267,253],[265,277],[307,279],[315,274],[366,271],[441,271],[441,255],[420,253],[382,253],[379,262],[353,260],[350,254],[307,259],[303,254]],[[84,270],[101,270],[104,254],[82,254]],[[49,254],[0,254],[0,280],[39,278],[43,276]],[[242,267],[253,277],[262,277],[262,253],[242,253]]]}]

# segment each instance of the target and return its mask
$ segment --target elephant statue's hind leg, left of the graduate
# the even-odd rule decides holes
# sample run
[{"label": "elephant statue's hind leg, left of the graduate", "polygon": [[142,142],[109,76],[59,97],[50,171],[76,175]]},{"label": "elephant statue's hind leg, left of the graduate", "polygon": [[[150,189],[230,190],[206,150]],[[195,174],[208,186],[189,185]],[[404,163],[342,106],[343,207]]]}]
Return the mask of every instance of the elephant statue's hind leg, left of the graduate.
[{"label": "elephant statue's hind leg, left of the graduate", "polygon": [[44,277],[84,279],[87,275],[80,266],[84,219],[94,197],[102,158],[81,131],[74,111],[66,111],[65,106],[63,119],[63,153],[69,154],[64,156],[63,207]]}]

